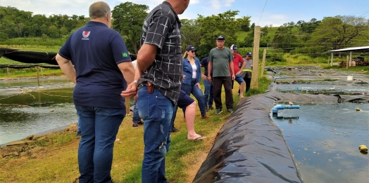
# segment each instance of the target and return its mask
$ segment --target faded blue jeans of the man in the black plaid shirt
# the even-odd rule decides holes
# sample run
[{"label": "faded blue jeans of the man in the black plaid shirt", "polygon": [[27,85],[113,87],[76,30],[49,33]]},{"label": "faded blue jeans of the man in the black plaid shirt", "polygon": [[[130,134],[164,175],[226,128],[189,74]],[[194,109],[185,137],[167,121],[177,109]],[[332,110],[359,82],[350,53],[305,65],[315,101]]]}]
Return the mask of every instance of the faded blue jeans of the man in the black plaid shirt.
[{"label": "faded blue jeans of the man in the black plaid shirt", "polygon": [[142,183],[167,182],[165,179],[165,155],[170,146],[170,121],[174,105],[158,90],[149,94],[147,86],[138,90],[137,107],[144,123],[144,160]]}]

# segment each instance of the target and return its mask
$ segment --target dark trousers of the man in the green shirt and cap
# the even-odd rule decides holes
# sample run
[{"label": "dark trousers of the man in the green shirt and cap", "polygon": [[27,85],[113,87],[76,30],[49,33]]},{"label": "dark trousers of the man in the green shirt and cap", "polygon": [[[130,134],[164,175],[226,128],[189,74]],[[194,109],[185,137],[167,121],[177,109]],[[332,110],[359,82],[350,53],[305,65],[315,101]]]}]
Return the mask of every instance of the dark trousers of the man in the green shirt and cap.
[{"label": "dark trousers of the man in the green shirt and cap", "polygon": [[215,108],[223,108],[222,86],[224,86],[225,90],[225,107],[227,107],[227,109],[233,109],[232,79],[230,76],[213,77]]}]

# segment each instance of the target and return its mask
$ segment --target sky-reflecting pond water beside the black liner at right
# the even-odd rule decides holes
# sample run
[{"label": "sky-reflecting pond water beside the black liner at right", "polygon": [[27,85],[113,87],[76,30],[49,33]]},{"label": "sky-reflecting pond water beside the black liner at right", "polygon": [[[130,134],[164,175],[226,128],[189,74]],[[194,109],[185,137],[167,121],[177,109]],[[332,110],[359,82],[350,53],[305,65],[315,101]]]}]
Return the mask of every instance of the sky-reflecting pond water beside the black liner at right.
[{"label": "sky-reflecting pond water beside the black liner at right", "polygon": [[[356,111],[360,108],[361,111]],[[301,104],[273,117],[282,130],[304,182],[368,183],[369,104]]]}]

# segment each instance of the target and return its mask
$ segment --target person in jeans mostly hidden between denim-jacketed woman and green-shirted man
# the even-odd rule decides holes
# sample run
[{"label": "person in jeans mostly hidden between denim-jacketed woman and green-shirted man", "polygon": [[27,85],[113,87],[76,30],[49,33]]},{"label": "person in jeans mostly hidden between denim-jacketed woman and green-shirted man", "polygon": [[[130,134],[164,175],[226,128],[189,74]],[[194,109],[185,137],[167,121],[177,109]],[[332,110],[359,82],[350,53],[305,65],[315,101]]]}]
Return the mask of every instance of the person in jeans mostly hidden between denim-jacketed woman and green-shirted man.
[{"label": "person in jeans mostly hidden between denim-jacketed woman and green-shirted man", "polygon": [[[205,101],[205,109],[206,111],[213,110],[213,102],[214,102],[214,92],[213,92],[213,82],[208,81],[208,57],[204,57],[200,62],[201,67],[204,67],[204,74],[201,75],[202,79],[204,79],[204,101]],[[213,70],[210,72],[210,75],[213,76]]]}]

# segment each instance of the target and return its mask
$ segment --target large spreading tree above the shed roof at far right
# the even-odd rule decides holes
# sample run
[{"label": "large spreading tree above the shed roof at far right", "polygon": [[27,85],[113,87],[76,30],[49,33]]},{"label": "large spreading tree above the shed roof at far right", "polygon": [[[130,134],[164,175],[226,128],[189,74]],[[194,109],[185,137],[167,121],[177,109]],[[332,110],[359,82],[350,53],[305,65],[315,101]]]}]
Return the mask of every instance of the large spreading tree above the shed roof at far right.
[{"label": "large spreading tree above the shed roof at far right", "polygon": [[328,17],[320,22],[308,43],[318,44],[321,50],[363,46],[369,41],[368,30],[368,19],[365,18],[340,15]]}]

